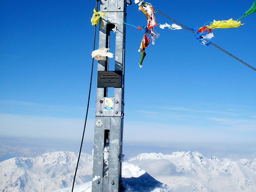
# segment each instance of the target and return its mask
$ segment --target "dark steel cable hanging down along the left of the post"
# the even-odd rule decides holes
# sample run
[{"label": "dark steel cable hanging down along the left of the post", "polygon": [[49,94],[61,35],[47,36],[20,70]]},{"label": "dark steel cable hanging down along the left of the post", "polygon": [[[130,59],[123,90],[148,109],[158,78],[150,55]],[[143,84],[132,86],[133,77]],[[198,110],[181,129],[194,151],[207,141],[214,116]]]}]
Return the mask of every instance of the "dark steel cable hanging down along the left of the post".
[{"label": "dark steel cable hanging down along the left of the post", "polygon": [[[96,10],[97,12],[98,12],[98,1],[99,1],[99,0],[97,0],[96,6],[95,6],[95,10]],[[96,25],[95,25],[95,29],[94,29],[93,51],[95,50],[95,39],[96,39]],[[92,71],[91,71],[91,80],[90,80],[90,88],[89,88],[89,95],[88,95],[86,116],[85,116],[85,122],[84,122],[84,132],[85,132],[85,126],[86,126],[87,115],[88,115],[88,110],[89,110],[89,103],[90,103],[90,96],[91,96],[93,62],[94,62],[94,58],[92,58]],[[81,141],[81,146],[80,146],[80,151],[79,151],[78,160],[77,160],[77,164],[76,164],[76,172],[77,172],[77,168],[78,168],[78,164],[79,164],[79,159],[80,159],[80,156],[81,156],[81,150],[82,150],[83,141],[84,141],[84,132],[83,132],[82,141]],[[74,175],[74,180],[73,180],[73,185],[72,185],[72,192],[73,192],[74,185],[75,185],[76,172],[75,172],[75,175]]]}]

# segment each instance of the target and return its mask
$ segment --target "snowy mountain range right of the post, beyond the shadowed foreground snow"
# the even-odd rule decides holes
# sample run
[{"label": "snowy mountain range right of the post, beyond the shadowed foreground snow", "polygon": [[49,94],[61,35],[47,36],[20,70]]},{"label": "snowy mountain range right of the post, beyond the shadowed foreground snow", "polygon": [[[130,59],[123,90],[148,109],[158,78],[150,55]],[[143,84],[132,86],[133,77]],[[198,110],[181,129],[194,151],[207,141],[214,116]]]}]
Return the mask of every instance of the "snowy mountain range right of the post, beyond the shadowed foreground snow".
[{"label": "snowy mountain range right of the post, beyond the shadowed foreground snow", "polygon": [[177,191],[256,191],[256,158],[232,162],[199,152],[144,153],[128,161]]}]

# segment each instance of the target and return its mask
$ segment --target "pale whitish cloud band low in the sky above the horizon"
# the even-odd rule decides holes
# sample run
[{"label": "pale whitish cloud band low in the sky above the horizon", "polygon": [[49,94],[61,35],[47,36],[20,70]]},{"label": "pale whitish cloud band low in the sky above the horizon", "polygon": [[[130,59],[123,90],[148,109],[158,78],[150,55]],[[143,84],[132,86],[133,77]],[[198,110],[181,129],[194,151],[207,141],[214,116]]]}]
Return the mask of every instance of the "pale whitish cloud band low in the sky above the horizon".
[{"label": "pale whitish cloud band low in the sky above the horizon", "polygon": [[[224,119],[225,120],[225,119]],[[224,121],[223,120],[223,121]],[[45,116],[25,116],[14,114],[0,114],[1,131],[3,136],[42,137],[81,139],[84,119],[82,118],[57,118]],[[250,122],[249,122],[250,123]],[[255,121],[251,122],[252,126]],[[94,139],[94,119],[88,119],[85,132],[85,140]],[[256,131],[244,125],[208,127],[172,124],[171,121],[151,123],[146,121],[124,120],[124,140],[129,142],[250,142],[255,140]],[[240,126],[241,131],[236,131]]]}]

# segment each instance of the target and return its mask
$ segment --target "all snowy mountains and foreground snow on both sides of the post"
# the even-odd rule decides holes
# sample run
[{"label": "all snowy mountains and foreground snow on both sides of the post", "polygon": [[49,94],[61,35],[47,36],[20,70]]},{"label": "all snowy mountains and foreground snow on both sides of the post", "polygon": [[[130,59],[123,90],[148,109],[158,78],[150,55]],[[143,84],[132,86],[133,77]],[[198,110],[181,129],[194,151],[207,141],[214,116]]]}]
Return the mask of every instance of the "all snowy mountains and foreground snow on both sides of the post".
[{"label": "all snowy mountains and foreground snow on both sides of the post", "polygon": [[[50,152],[0,162],[0,192],[70,191],[77,158],[73,152]],[[91,190],[92,159],[81,154],[77,191]],[[122,173],[127,192],[256,191],[256,158],[234,162],[199,152],[143,153],[124,163]]]}]

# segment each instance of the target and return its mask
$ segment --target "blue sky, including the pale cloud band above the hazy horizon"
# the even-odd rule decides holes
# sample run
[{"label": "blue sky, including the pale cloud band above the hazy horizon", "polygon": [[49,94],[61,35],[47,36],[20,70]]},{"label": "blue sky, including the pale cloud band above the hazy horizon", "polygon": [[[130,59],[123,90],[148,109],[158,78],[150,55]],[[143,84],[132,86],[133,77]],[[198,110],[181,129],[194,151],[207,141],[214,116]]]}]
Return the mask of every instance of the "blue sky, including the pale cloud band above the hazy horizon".
[{"label": "blue sky, including the pale cloud band above the hazy horizon", "polygon": [[[185,26],[238,19],[253,1],[148,1]],[[96,1],[0,2],[0,134],[77,139],[87,104]],[[160,13],[156,22],[172,24]],[[256,68],[256,13],[213,30],[213,43]],[[145,26],[138,4],[127,23]],[[256,71],[186,29],[154,28],[139,68],[140,30],[126,28],[124,141],[255,144]],[[99,26],[97,26],[98,35]],[[112,34],[113,35],[113,34]],[[150,39],[151,40],[151,39]],[[98,39],[96,49],[98,48]],[[112,49],[111,49],[112,48]],[[110,52],[113,51],[110,46]],[[93,140],[97,62],[86,140]],[[114,63],[114,59],[110,59]],[[254,145],[253,144],[253,145]]]}]

